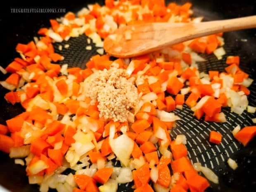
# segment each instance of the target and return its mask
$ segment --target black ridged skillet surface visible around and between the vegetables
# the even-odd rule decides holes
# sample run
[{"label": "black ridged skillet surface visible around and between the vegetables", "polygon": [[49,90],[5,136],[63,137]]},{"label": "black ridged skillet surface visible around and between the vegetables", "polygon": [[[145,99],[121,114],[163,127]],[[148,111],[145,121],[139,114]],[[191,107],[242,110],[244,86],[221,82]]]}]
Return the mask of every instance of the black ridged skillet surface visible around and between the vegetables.
[{"label": "black ridged skillet surface visible around and between the vegetables", "polygon": [[[167,0],[166,0],[167,1]],[[100,4],[102,0],[98,0]],[[168,1],[167,1],[168,2]],[[183,4],[187,1],[174,1],[178,4]],[[0,38],[1,38],[1,63],[5,67],[12,62],[14,57],[17,57],[15,46],[17,43],[28,43],[36,36],[36,31],[40,27],[49,27],[49,19],[61,17],[64,14],[58,13],[11,13],[10,8],[65,8],[66,12],[77,12],[82,7],[90,3],[95,3],[92,0],[68,2],[34,2],[32,5],[26,2],[7,2],[7,5],[1,7],[0,13]],[[256,1],[238,1],[238,0],[201,0],[192,1],[194,16],[204,16],[204,20],[214,19],[230,19],[235,17],[243,17],[256,14]],[[225,45],[224,49],[227,55],[221,60],[217,60],[214,55],[201,56],[206,58],[206,62],[199,64],[201,71],[209,70],[223,71],[225,67],[225,59],[228,55],[239,55],[241,58],[240,67],[246,73],[249,73],[250,78],[256,80],[256,30],[244,30],[224,33]],[[247,39],[247,41],[244,41]],[[85,50],[87,45],[86,37],[72,38],[68,42],[61,43],[70,44],[69,49],[64,49],[59,52],[57,49],[59,43],[55,44],[56,52],[59,52],[65,57],[65,60],[60,64],[68,63],[71,66],[84,67],[85,62],[92,55],[96,55],[96,48],[93,50]],[[3,81],[7,76],[0,74],[0,81]],[[250,88],[249,105],[256,106],[256,82]],[[0,123],[5,123],[5,120],[19,114],[23,109],[20,105],[7,104],[3,99],[7,90],[0,87]],[[237,142],[231,133],[231,130],[236,126],[241,127],[252,125],[251,118],[255,118],[255,114],[244,112],[241,116],[230,113],[230,109],[223,109],[226,115],[226,123],[207,123],[197,121],[192,116],[192,111],[184,105],[183,110],[175,110],[182,118],[177,122],[177,128],[171,132],[171,137],[175,138],[178,134],[185,134],[188,140],[186,145],[189,151],[189,157],[193,163],[201,162],[203,166],[211,168],[219,176],[219,184],[211,183],[206,191],[208,192],[252,192],[256,188],[256,139],[254,138],[247,147],[243,147]],[[223,135],[223,141],[220,145],[213,145],[208,142],[209,133],[211,130],[217,130]],[[227,164],[228,158],[232,158],[238,163],[237,170],[233,171]],[[38,185],[28,185],[25,168],[20,165],[15,165],[13,159],[9,159],[7,154],[0,152],[0,185],[6,187],[13,192],[38,192]],[[129,186],[132,186],[130,184]],[[120,186],[119,192],[133,191],[130,187]]]}]

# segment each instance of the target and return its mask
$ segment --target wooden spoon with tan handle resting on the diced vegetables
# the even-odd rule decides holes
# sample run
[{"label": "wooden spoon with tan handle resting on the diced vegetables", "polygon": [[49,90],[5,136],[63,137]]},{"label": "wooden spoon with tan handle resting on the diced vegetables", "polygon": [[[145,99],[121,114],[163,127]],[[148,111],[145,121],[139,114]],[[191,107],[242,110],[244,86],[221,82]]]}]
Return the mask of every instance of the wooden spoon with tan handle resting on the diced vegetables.
[{"label": "wooden spoon with tan handle resting on the diced vegetables", "polygon": [[256,16],[201,23],[145,23],[122,26],[104,40],[104,49],[114,57],[135,57],[194,38],[254,27]]}]

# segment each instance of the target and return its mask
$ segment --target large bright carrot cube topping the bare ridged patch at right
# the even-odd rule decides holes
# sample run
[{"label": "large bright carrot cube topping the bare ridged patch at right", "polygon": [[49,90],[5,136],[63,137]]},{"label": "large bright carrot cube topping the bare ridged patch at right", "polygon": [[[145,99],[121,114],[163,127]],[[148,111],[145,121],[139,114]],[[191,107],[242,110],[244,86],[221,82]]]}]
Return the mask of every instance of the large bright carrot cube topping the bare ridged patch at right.
[{"label": "large bright carrot cube topping the bare ridged patch at right", "polygon": [[209,117],[212,117],[215,114],[218,114],[221,111],[221,104],[215,100],[213,97],[210,97],[201,108],[202,111]]}]

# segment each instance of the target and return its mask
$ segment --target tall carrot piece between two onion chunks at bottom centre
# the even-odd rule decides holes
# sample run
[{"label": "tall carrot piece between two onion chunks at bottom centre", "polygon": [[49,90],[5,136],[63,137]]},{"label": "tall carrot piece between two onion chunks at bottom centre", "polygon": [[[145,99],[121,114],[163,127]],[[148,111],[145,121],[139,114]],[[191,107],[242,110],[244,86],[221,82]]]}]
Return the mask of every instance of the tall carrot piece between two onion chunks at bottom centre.
[{"label": "tall carrot piece between two onion chunks at bottom centre", "polygon": [[149,182],[150,171],[149,164],[145,163],[137,170],[133,171],[133,180],[135,184],[135,188],[146,185]]}]

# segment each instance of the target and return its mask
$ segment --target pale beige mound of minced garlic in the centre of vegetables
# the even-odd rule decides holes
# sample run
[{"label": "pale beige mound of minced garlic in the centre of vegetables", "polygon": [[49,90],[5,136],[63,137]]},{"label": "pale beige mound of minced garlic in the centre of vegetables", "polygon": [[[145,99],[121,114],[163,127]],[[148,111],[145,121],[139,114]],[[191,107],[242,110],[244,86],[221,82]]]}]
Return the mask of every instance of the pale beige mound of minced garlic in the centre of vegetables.
[{"label": "pale beige mound of minced garlic in the centre of vegetables", "polygon": [[138,103],[137,88],[127,80],[125,70],[117,66],[95,73],[90,81],[88,95],[92,102],[99,102],[97,107],[100,117],[127,121],[129,111]]}]

